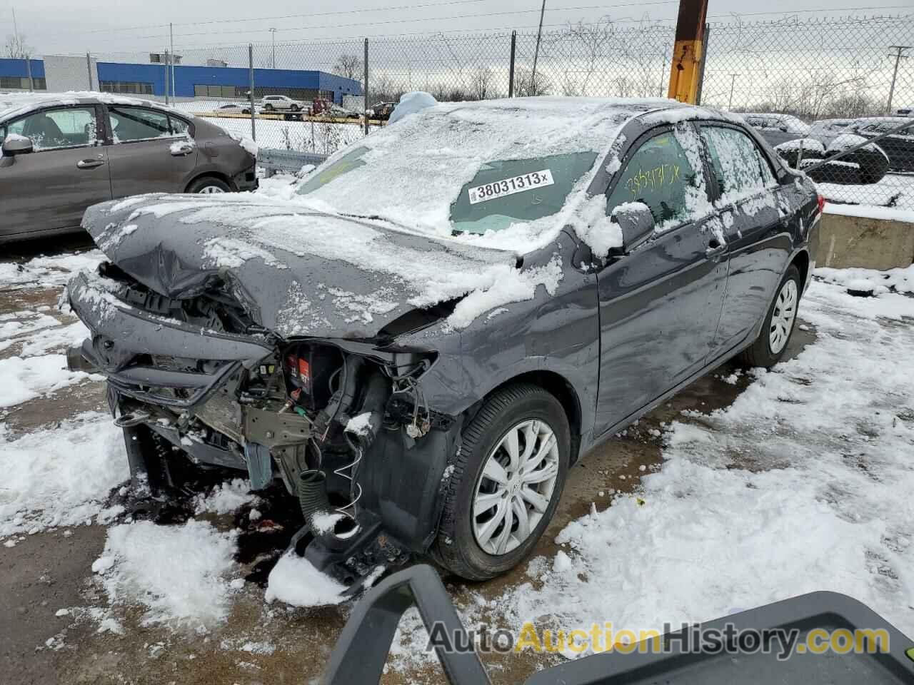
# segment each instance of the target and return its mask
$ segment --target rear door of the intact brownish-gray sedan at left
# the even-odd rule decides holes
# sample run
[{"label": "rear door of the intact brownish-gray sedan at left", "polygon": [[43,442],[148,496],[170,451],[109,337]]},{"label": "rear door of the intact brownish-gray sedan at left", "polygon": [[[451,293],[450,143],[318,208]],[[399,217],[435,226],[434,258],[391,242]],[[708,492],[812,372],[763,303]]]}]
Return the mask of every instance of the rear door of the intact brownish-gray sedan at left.
[{"label": "rear door of the intact brownish-gray sedan at left", "polygon": [[112,195],[183,193],[197,167],[187,123],[164,111],[108,106]]}]

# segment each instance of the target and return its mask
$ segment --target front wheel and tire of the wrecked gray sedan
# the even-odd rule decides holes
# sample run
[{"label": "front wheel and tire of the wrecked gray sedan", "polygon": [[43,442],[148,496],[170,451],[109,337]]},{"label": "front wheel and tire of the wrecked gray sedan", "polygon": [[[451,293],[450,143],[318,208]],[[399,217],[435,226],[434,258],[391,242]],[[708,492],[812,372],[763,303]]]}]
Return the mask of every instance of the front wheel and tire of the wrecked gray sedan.
[{"label": "front wheel and tire of the wrecked gray sedan", "polygon": [[[515,468],[509,456],[512,433],[518,455]],[[530,436],[534,439],[533,449],[525,460],[526,437]],[[555,438],[554,447],[550,447],[550,436]],[[541,461],[535,463],[540,454]],[[520,564],[533,551],[556,511],[569,458],[569,422],[554,395],[528,384],[497,391],[464,427],[461,447],[449,464],[451,475],[442,495],[441,525],[432,549],[435,559],[467,580],[494,578]],[[506,468],[494,469],[489,466],[490,461],[500,467],[501,462],[507,462]],[[553,471],[554,475],[543,479]],[[505,487],[490,479],[493,473],[507,476]],[[540,479],[539,482],[525,483],[525,473],[527,478]],[[529,494],[530,490],[538,498]],[[526,498],[537,501],[538,506]],[[486,508],[490,501],[495,503]],[[517,516],[521,506],[526,511],[527,534],[523,536]],[[501,514],[500,521],[494,521],[502,511],[507,513]],[[505,534],[508,516],[511,530]],[[504,551],[499,553],[499,547]]]}]

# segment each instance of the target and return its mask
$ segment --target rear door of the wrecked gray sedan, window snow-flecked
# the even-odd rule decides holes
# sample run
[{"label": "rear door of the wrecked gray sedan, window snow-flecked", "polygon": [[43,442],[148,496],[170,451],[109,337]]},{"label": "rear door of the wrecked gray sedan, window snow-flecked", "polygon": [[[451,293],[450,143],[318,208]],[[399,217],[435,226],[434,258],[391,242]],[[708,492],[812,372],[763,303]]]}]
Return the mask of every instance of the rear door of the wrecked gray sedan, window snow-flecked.
[{"label": "rear door of the wrecked gray sedan, window snow-flecked", "polygon": [[702,123],[700,134],[729,249],[727,295],[712,350],[717,356],[745,341],[768,311],[791,255],[794,203],[748,132],[715,122]]}]

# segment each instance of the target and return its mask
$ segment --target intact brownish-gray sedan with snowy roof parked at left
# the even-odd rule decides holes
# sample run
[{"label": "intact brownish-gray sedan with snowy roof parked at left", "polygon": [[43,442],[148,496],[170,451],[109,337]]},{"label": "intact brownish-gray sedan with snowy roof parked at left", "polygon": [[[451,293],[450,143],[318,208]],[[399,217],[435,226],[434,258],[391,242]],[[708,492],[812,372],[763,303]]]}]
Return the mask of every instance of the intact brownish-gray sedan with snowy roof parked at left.
[{"label": "intact brownish-gray sedan with snowy roof parked at left", "polygon": [[127,195],[257,187],[239,141],[146,100],[0,95],[0,141],[0,242],[79,230],[86,207]]}]

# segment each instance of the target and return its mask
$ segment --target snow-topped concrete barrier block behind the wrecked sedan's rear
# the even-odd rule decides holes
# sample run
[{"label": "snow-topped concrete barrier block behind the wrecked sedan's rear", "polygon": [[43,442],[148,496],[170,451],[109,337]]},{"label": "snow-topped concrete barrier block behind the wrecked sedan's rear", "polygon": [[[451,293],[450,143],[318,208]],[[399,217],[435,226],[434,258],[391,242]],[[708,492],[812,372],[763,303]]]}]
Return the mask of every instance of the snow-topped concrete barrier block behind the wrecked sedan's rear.
[{"label": "snow-topped concrete barrier block behind the wrecked sedan's rear", "polygon": [[828,205],[819,225],[816,262],[833,269],[909,267],[914,262],[914,212]]}]

